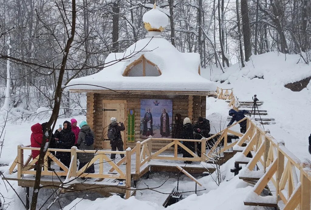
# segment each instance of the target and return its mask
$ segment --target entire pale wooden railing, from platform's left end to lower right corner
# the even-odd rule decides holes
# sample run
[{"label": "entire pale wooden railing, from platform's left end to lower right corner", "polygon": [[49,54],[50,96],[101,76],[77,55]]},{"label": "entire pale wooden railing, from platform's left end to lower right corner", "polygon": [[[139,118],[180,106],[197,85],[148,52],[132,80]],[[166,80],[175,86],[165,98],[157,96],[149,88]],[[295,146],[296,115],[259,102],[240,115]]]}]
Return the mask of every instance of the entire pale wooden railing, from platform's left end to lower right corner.
[{"label": "entire pale wooden railing, from platform's left end to lower right corner", "polygon": [[[240,133],[232,130],[232,127],[243,120],[247,120],[246,132]],[[228,143],[228,134],[239,136],[238,141]],[[208,141],[216,141],[206,154],[206,144]],[[153,141],[168,141],[160,150],[152,152]],[[201,157],[198,157],[195,152],[192,152],[180,141],[193,141],[201,142]],[[220,144],[223,141],[223,146]],[[246,146],[244,146],[246,144]],[[174,155],[165,155],[163,152],[174,146]],[[177,155],[178,146],[182,147],[193,157],[183,158]],[[93,177],[93,178],[118,178],[126,180],[126,189],[130,189],[131,184],[131,159],[135,157],[135,174],[141,172],[141,168],[146,163],[148,164],[152,159],[157,160],[170,160],[170,161],[209,161],[214,159],[215,150],[220,148],[220,152],[233,149],[234,151],[241,151],[237,159],[242,159],[247,162],[247,166],[240,171],[240,178],[248,178],[253,180],[259,180],[254,186],[253,190],[249,193],[245,199],[245,204],[251,205],[248,199],[254,200],[254,196],[258,201],[261,199],[267,202],[269,200],[272,204],[284,203],[284,209],[310,209],[311,206],[311,161],[306,160],[301,162],[294,154],[286,149],[284,142],[276,141],[269,132],[262,129],[260,124],[255,124],[250,118],[246,117],[239,122],[232,124],[230,127],[216,133],[209,138],[202,138],[201,140],[185,140],[185,139],[163,139],[153,138],[137,142],[136,146],[132,150],[120,151],[104,151],[104,150],[77,150],[76,147],[72,147],[71,150],[61,149],[48,149],[47,154],[44,157],[44,167],[42,175],[57,175],[57,176],[70,176],[70,177]],[[24,150],[39,150],[39,148],[32,148],[30,146],[18,146],[18,155],[14,160],[12,166],[9,169],[9,173],[12,173],[17,165],[17,177],[20,179],[23,174],[35,174],[34,168],[37,159],[32,160],[32,157],[28,157],[26,162],[24,161]],[[51,152],[63,151],[70,152],[72,159],[71,168],[67,168],[59,159],[57,159]],[[86,164],[80,170],[77,170],[77,153],[93,153],[94,158],[90,163]],[[109,159],[107,154],[125,154],[118,163],[114,163]],[[134,153],[135,156],[134,156]],[[251,153],[253,158],[248,158],[248,154]],[[38,157],[37,157],[38,158]],[[48,170],[48,158],[51,158],[55,163],[59,165],[64,171],[49,171]],[[237,161],[236,159],[236,161]],[[95,174],[85,173],[84,171],[92,163],[99,161],[99,172]],[[123,162],[126,162],[126,171],[123,172],[119,167]],[[20,163],[20,164],[19,164]],[[109,171],[104,173],[104,164],[109,164]],[[259,168],[259,171],[254,171],[254,168]],[[116,174],[111,172],[116,171]],[[69,175],[68,175],[69,174]],[[245,174],[248,177],[243,177]],[[252,177],[253,176],[253,177]],[[260,194],[263,189],[272,183],[275,188],[275,195],[262,198]],[[126,190],[126,198],[130,196],[130,190]],[[253,203],[256,204],[256,203]]]}]

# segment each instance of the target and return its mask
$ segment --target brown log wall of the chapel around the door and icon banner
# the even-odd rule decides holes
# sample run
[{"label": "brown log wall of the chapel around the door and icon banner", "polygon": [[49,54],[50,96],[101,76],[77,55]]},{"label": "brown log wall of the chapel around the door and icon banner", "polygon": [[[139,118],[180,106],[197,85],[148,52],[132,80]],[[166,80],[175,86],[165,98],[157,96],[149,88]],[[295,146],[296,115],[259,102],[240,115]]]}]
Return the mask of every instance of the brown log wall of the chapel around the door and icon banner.
[{"label": "brown log wall of the chapel around the door and icon banner", "polygon": [[[99,149],[103,148],[103,99],[105,100],[126,100],[126,113],[128,113],[128,109],[135,110],[135,142],[143,141],[145,139],[140,138],[140,100],[141,99],[172,99],[173,100],[173,124],[174,124],[174,116],[175,114],[181,114],[182,118],[188,117],[192,112],[193,120],[196,122],[199,116],[205,117],[206,115],[206,96],[192,96],[188,95],[127,95],[127,94],[101,94],[94,93],[94,96],[87,95],[87,105],[92,105],[94,101],[94,114],[93,114],[93,130],[96,135],[96,145]],[[90,99],[89,99],[90,98]],[[189,101],[189,98],[193,98],[193,100]],[[191,105],[192,104],[192,105]],[[89,116],[90,120],[91,115],[90,112],[93,111],[91,107],[87,108],[87,116]],[[126,122],[127,122],[127,114],[126,114]],[[89,122],[89,121],[88,121]],[[125,129],[127,132],[127,128]],[[127,139],[127,136],[125,136]],[[135,146],[135,142],[126,142],[127,147],[133,148]],[[162,143],[160,143],[162,142]],[[166,144],[163,141],[153,143],[154,149],[159,149],[165,146]]]}]

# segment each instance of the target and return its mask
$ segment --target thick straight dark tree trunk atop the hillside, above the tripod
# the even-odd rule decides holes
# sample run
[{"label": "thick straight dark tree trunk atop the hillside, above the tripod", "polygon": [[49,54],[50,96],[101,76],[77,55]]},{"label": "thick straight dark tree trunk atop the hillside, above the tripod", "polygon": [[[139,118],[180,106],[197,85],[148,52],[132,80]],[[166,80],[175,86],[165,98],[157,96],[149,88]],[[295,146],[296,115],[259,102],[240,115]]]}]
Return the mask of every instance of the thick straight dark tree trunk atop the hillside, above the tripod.
[{"label": "thick straight dark tree trunk atop the hillside, above the tripod", "polygon": [[244,38],[245,61],[252,55],[251,29],[249,26],[247,0],[241,0],[242,29]]}]

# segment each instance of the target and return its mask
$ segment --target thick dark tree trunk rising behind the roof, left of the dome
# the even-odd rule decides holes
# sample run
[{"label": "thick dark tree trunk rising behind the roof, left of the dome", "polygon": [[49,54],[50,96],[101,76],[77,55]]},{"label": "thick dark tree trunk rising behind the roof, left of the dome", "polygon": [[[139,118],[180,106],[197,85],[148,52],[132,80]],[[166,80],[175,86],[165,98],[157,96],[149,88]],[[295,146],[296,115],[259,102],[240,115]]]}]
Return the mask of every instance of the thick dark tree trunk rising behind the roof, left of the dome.
[{"label": "thick dark tree trunk rising behind the roof, left of the dome", "polygon": [[113,3],[112,7],[112,51],[118,52],[119,48],[119,1]]}]

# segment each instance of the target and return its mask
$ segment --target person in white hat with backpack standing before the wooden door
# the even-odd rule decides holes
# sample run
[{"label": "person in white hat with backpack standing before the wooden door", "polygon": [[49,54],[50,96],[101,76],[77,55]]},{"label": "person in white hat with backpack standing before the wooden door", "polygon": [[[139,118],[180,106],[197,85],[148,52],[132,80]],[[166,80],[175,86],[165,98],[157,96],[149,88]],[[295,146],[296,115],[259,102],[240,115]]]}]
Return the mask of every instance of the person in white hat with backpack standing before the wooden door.
[{"label": "person in white hat with backpack standing before the wooden door", "polygon": [[[110,118],[111,123],[108,127],[107,136],[110,139],[110,146],[112,151],[123,151],[123,141],[121,136],[121,131],[125,130],[124,124],[119,122],[117,123],[117,118],[112,117]],[[120,125],[119,125],[120,124]],[[121,158],[124,157],[124,154],[120,154]],[[114,160],[116,158],[115,153],[111,153],[110,159]],[[126,164],[126,162],[123,162]]]}]

